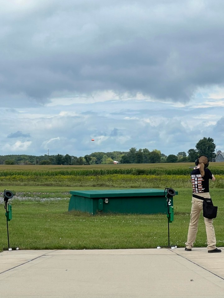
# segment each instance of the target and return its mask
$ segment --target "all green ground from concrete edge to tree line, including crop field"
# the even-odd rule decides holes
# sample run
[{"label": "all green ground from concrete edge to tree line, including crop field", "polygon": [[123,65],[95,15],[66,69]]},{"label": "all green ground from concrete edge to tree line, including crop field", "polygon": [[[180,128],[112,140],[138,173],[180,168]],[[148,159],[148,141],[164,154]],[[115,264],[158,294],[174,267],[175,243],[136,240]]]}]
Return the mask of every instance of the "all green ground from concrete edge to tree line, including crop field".
[{"label": "all green ground from concrete edge to tree line, including crop field", "polygon": [[[0,165],[0,191],[9,189],[13,219],[8,223],[11,246],[21,249],[118,249],[168,245],[166,214],[90,214],[68,212],[69,191],[109,188],[161,188],[178,191],[170,244],[184,247],[191,208],[190,169],[194,163],[91,166]],[[216,176],[210,193],[218,216],[214,219],[217,246],[224,246],[224,163],[209,166]],[[7,175],[6,175],[7,174]],[[22,199],[16,200],[16,197]],[[7,247],[3,196],[0,197],[0,250]],[[2,211],[1,211],[2,210]],[[203,216],[195,246],[206,246]]]}]

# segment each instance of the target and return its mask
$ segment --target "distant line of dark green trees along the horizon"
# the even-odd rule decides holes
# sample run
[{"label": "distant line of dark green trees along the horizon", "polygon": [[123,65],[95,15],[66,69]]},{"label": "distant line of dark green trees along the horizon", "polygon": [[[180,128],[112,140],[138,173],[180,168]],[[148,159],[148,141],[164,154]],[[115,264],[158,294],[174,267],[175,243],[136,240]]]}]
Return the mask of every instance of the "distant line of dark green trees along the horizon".
[{"label": "distant line of dark green trees along the horizon", "polygon": [[208,156],[209,160],[215,158],[214,140],[212,138],[203,138],[195,145],[196,149],[189,149],[186,152],[178,152],[166,156],[160,150],[149,151],[145,149],[136,149],[132,147],[128,152],[94,152],[85,156],[62,155],[4,155],[0,156],[0,164],[5,165],[94,165],[94,164],[112,164],[119,162],[123,164],[130,163],[161,163],[161,162],[194,162],[199,155]]}]

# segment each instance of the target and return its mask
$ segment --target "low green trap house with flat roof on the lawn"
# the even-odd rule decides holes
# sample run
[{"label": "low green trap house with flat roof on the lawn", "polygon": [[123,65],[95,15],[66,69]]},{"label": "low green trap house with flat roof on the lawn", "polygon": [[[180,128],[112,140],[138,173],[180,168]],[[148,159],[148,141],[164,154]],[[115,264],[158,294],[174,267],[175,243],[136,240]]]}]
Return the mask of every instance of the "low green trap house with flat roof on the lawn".
[{"label": "low green trap house with flat roof on the lawn", "polygon": [[[178,194],[178,192],[175,192]],[[70,191],[68,211],[104,213],[167,213],[167,192],[161,189],[118,189]],[[170,198],[173,206],[173,197]]]}]

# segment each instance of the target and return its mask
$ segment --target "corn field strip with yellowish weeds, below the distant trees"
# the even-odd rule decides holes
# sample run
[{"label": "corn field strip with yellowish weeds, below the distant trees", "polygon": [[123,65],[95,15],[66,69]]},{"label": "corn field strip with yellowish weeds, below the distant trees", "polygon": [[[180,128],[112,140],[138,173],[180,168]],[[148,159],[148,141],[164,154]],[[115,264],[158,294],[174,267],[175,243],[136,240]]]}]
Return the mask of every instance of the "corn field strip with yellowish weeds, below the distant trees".
[{"label": "corn field strip with yellowish weeds, below the distant trees", "polygon": [[[224,163],[209,166],[211,188],[224,188]],[[94,166],[0,166],[0,186],[191,187],[192,164]]]}]

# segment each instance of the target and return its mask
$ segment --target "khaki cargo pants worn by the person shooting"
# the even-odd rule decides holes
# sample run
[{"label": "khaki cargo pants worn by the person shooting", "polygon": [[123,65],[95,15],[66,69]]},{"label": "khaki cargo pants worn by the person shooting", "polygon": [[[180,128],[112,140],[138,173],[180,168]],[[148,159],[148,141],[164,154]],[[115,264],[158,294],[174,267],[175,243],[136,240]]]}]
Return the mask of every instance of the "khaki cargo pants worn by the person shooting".
[{"label": "khaki cargo pants worn by the person shooting", "polygon": [[[210,198],[209,192],[205,193],[197,193],[197,196],[203,196],[204,198]],[[193,244],[196,239],[196,235],[198,232],[198,221],[201,214],[201,211],[203,209],[203,200],[197,199],[192,197],[192,207],[191,207],[191,218],[190,218],[190,224],[189,224],[189,230],[188,230],[188,237],[186,247],[192,248]],[[208,243],[208,250],[213,250],[216,248],[216,237],[215,237],[215,231],[213,227],[213,219],[205,218],[205,228],[206,228],[206,234],[207,234],[207,243]]]}]

